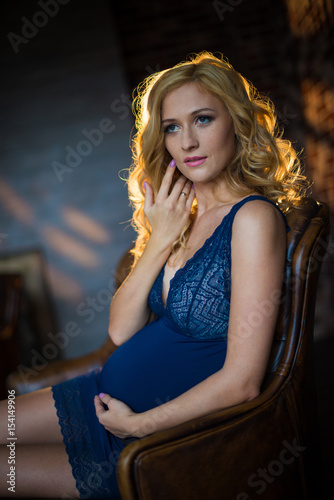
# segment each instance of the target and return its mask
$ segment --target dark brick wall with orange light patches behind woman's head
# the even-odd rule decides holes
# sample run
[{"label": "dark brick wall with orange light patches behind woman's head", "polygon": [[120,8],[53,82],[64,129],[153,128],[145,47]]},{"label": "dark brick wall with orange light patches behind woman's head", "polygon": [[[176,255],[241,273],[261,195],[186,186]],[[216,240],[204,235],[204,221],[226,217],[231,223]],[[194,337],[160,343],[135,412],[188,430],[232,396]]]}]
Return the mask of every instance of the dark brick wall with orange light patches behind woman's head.
[{"label": "dark brick wall with orange light patches behind woman's head", "polygon": [[[334,7],[332,0],[111,2],[126,74],[148,74],[201,50],[223,53],[274,102],[301,152],[312,195],[334,214]],[[333,219],[334,223],[334,219]],[[323,262],[316,332],[333,334],[334,246]]]}]

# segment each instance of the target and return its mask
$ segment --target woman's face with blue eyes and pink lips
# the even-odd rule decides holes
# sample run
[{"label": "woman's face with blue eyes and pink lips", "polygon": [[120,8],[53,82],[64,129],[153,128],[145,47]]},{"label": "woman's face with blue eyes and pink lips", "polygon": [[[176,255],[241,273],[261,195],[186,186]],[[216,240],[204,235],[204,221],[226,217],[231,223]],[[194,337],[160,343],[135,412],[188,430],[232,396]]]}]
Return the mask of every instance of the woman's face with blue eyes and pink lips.
[{"label": "woman's face with blue eyes and pink lips", "polygon": [[220,99],[196,83],[186,83],[167,94],[161,120],[165,147],[192,182],[209,182],[232,159],[232,118]]}]

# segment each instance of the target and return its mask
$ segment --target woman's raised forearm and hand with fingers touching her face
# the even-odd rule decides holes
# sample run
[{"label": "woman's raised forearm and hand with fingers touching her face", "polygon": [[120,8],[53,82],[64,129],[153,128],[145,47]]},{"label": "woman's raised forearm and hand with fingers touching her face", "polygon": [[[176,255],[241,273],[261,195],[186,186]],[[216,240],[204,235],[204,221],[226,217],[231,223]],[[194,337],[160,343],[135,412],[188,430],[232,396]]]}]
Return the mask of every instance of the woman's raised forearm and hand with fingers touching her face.
[{"label": "woman's raised forearm and hand with fingers touching her face", "polygon": [[[191,183],[181,176],[171,193],[175,167],[167,168],[154,202],[152,187],[147,184],[144,211],[152,233],[136,266],[118,289],[110,305],[109,335],[116,345],[126,342],[148,321],[148,295],[172,245],[184,228],[194,200]],[[180,196],[181,192],[189,193]]]}]

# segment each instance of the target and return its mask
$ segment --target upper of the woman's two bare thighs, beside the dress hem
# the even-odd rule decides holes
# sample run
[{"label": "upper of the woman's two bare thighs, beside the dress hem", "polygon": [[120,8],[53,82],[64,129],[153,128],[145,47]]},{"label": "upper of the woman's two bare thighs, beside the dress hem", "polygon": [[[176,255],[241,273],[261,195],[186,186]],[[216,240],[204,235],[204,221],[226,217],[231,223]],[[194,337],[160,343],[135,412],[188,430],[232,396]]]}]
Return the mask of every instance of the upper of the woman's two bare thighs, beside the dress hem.
[{"label": "upper of the woman's two bare thighs, beside the dress hem", "polygon": [[[0,442],[8,438],[8,403],[0,402]],[[15,437],[20,444],[62,443],[50,387],[15,398]]]}]

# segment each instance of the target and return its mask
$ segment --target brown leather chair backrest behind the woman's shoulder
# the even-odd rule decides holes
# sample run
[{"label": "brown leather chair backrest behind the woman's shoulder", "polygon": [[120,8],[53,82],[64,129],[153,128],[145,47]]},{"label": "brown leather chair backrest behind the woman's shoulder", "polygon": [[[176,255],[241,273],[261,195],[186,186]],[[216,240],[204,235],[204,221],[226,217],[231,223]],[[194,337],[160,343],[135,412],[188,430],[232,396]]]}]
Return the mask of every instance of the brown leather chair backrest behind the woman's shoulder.
[{"label": "brown leather chair backrest behind the woman's shoulder", "polygon": [[[303,198],[288,211],[287,222],[290,231],[284,287],[274,298],[280,301],[280,310],[263,388],[274,376],[288,373],[298,345],[313,344],[317,281],[329,238],[328,206]],[[303,363],[300,356],[296,361]]]}]

